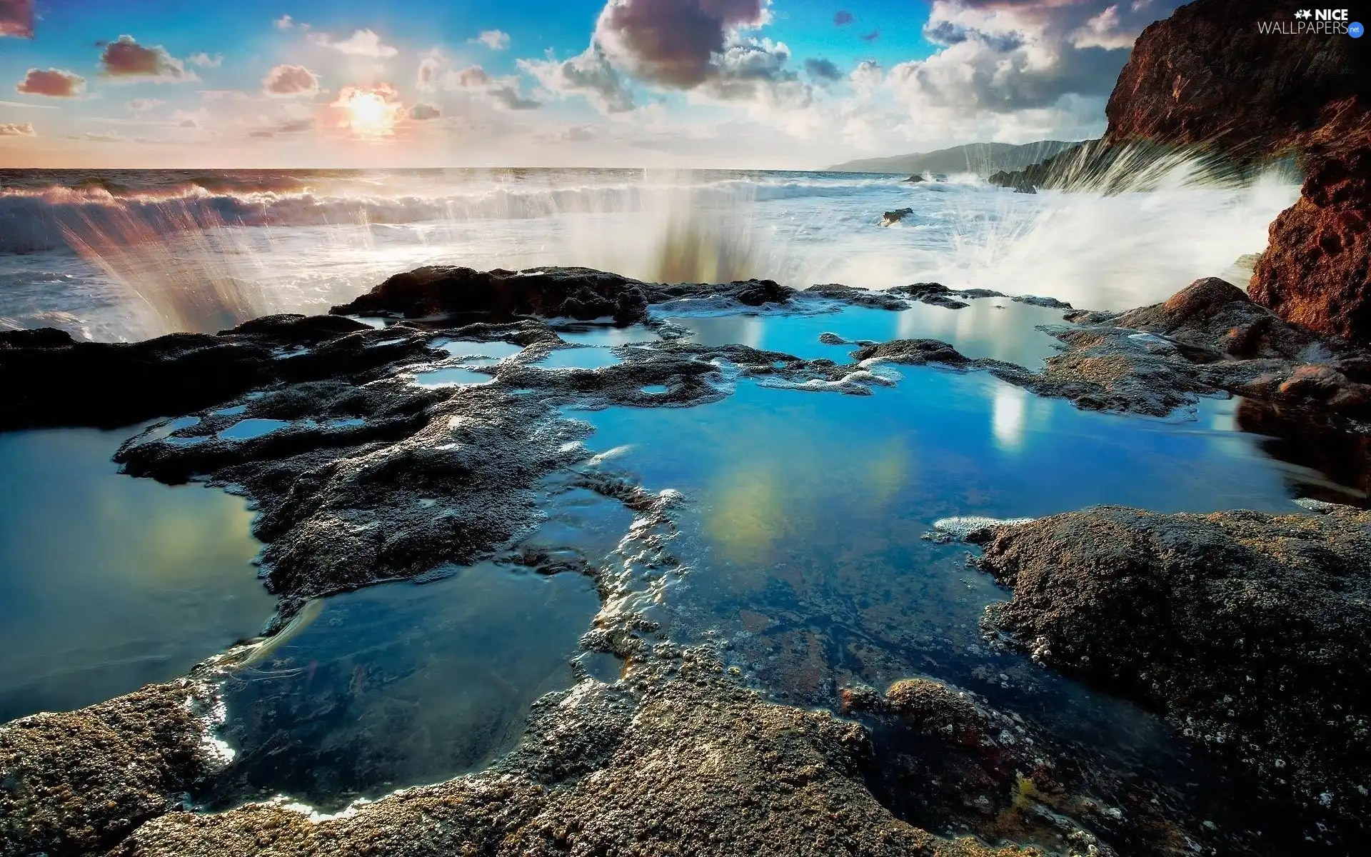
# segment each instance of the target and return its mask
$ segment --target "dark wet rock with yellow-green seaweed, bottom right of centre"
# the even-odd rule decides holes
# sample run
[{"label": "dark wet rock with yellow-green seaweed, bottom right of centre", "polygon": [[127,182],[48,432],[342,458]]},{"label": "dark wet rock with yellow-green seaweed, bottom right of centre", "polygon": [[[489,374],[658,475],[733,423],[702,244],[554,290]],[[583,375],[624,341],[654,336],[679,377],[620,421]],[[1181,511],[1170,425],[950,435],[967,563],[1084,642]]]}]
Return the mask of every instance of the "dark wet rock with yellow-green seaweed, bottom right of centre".
[{"label": "dark wet rock with yellow-green seaweed, bottom right of centre", "polygon": [[856,687],[845,699],[872,727],[868,783],[914,825],[1057,854],[1180,857],[1217,845],[1172,814],[1178,795],[1137,775],[1121,782],[972,691],[920,676],[895,681],[884,698]]}]

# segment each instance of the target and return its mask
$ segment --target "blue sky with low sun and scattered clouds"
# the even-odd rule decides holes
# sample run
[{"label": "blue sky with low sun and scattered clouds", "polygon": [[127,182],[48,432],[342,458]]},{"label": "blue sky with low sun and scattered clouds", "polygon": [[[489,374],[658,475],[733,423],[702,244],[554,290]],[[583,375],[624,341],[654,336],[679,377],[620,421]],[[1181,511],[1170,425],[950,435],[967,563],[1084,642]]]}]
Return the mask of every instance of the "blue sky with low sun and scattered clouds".
[{"label": "blue sky with low sun and scattered clouds", "polygon": [[1080,140],[1176,0],[0,0],[0,166],[818,169]]}]

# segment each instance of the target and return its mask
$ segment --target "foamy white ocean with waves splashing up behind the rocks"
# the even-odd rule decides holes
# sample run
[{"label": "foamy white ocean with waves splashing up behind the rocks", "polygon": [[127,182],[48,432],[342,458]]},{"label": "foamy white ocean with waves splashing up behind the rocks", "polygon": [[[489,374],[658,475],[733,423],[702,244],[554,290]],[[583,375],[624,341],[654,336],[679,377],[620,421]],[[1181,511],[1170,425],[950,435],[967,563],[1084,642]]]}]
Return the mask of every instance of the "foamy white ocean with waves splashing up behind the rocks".
[{"label": "foamy white ocean with waves splashing up behind the rocks", "polygon": [[[421,265],[579,265],[647,281],[938,281],[1078,307],[1243,284],[1282,176],[1015,193],[969,176],[792,171],[0,170],[0,329],[93,340],[319,313]],[[1153,177],[1154,180],[1156,177]],[[880,226],[882,214],[913,213]]]}]

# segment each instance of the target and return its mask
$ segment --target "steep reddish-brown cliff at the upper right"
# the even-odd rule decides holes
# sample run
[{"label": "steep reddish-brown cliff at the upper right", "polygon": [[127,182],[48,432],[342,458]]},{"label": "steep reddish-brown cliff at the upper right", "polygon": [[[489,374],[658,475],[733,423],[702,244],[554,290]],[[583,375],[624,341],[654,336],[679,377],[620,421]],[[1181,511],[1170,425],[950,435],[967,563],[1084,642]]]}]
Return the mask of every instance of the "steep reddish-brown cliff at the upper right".
[{"label": "steep reddish-brown cliff at the upper right", "polygon": [[1252,298],[1328,335],[1371,341],[1371,45],[1261,33],[1290,0],[1198,0],[1143,30],[1109,96],[1109,144],[1298,152],[1301,199],[1271,225]]}]

